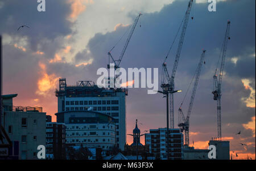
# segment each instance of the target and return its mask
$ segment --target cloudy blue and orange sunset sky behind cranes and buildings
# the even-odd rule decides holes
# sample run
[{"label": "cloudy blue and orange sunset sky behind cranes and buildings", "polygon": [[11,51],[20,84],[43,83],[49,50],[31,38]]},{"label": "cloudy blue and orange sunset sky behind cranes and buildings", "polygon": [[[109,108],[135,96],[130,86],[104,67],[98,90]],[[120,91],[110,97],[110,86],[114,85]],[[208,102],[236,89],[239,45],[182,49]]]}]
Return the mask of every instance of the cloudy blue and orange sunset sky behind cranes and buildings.
[{"label": "cloudy blue and orange sunset sky behind cranes and buildings", "polygon": [[[188,0],[46,0],[46,11],[31,0],[0,0],[0,34],[3,36],[3,93],[18,93],[15,106],[42,106],[55,120],[59,78],[68,85],[78,80],[97,81],[97,69],[108,64],[108,52],[130,29],[139,12],[142,16],[123,57],[121,67],[158,68],[159,90],[162,63],[179,29]],[[205,65],[190,117],[190,143],[208,148],[217,136],[216,101],[213,78],[224,39],[226,23],[230,40],[222,80],[222,139],[230,141],[233,159],[255,159],[255,1],[217,1],[216,12],[207,1],[192,6],[183,49],[175,77],[175,127],[178,111],[202,49]],[[22,28],[26,24],[30,28]],[[139,27],[141,25],[141,27]],[[129,30],[128,30],[129,31]],[[119,56],[127,33],[112,50]],[[179,36],[177,40],[179,40]],[[171,73],[177,40],[167,58]],[[187,108],[191,91],[182,106]],[[129,88],[126,97],[127,134],[138,119],[141,132],[166,127],[166,100],[148,95],[146,88]],[[241,131],[240,135],[236,135]],[[144,138],[141,138],[144,144]],[[127,143],[132,137],[127,136]],[[242,146],[239,143],[245,143]],[[236,153],[238,157],[236,156]]]}]

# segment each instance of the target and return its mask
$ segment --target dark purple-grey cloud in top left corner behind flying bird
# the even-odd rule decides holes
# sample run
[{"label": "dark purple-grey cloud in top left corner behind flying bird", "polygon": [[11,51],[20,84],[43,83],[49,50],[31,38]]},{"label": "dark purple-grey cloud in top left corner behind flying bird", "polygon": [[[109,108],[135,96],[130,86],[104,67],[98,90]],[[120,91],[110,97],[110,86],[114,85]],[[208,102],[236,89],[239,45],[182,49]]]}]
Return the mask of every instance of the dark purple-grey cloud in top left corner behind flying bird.
[{"label": "dark purple-grey cloud in top left corner behind flying bird", "polygon": [[[51,54],[60,46],[52,44],[59,36],[70,34],[71,22],[67,20],[70,6],[63,0],[47,1],[46,12],[38,12],[37,1],[3,1],[0,10],[0,32],[13,37],[28,37],[28,45],[34,51],[47,50]],[[26,24],[30,28],[17,29]],[[54,47],[54,48],[52,48]]]}]

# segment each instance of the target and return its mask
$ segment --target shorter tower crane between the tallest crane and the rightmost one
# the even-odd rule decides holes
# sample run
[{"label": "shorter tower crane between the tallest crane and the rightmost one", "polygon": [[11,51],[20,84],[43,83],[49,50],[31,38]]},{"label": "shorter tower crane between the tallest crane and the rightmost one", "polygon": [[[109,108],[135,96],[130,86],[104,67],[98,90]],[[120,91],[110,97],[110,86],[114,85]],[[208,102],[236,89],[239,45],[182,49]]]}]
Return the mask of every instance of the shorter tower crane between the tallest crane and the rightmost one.
[{"label": "shorter tower crane between the tallest crane and the rightmost one", "polygon": [[[199,82],[199,77],[200,77],[200,72],[204,63],[204,55],[205,55],[205,51],[203,50],[203,53],[201,54],[201,58],[199,61],[199,64],[197,66],[196,72],[195,72],[195,82],[194,82],[194,87],[192,90],[192,95],[191,95],[191,99],[189,102],[189,106],[188,106],[188,112],[187,112],[187,116],[185,117],[182,109],[181,109],[181,105],[183,104],[183,102],[180,105],[179,108],[179,124],[178,126],[180,127],[181,132],[185,131],[185,145],[189,146],[189,117],[191,115],[191,111],[192,111],[192,106],[193,106],[193,102],[195,99],[195,95],[196,95],[196,88]],[[192,79],[193,81],[193,79]],[[191,82],[192,83],[192,82]],[[183,121],[181,121],[181,118]]]}]

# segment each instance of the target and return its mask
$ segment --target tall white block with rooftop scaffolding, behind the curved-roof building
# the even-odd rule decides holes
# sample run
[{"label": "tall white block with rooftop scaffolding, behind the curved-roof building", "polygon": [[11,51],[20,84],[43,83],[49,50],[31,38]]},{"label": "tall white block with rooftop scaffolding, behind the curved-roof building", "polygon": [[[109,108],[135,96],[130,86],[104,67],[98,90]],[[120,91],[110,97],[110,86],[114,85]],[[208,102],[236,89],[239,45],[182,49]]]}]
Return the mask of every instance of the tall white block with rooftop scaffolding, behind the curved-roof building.
[{"label": "tall white block with rooftop scaffolding, behind the curved-roof building", "polygon": [[115,142],[117,147],[124,149],[127,89],[99,88],[89,81],[79,81],[76,86],[67,86],[66,79],[61,78],[56,96],[59,113],[92,110],[113,117],[116,123]]}]

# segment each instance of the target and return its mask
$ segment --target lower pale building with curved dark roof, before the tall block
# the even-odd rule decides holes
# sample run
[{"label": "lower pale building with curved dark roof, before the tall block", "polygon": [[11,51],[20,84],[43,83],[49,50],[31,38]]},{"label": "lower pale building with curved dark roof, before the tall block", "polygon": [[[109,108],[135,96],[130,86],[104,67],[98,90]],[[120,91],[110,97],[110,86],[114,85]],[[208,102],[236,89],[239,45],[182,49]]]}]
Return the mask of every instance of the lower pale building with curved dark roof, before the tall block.
[{"label": "lower pale building with curved dark roof, before the tall block", "polygon": [[55,114],[58,123],[65,123],[66,146],[101,148],[115,146],[115,123],[108,114],[93,111],[68,111]]}]

